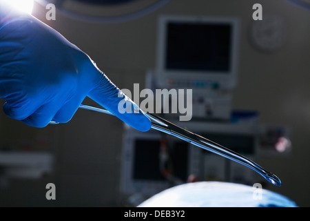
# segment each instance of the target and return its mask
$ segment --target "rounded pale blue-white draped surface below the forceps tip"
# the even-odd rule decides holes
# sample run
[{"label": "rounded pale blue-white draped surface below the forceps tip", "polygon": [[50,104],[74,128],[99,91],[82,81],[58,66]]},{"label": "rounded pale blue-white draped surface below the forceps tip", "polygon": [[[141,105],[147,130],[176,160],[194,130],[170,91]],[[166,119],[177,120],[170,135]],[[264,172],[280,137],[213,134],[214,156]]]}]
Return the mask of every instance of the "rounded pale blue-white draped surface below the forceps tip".
[{"label": "rounded pale blue-white draped surface below the forceps tip", "polygon": [[193,182],[174,186],[139,207],[297,207],[289,198],[244,184]]}]

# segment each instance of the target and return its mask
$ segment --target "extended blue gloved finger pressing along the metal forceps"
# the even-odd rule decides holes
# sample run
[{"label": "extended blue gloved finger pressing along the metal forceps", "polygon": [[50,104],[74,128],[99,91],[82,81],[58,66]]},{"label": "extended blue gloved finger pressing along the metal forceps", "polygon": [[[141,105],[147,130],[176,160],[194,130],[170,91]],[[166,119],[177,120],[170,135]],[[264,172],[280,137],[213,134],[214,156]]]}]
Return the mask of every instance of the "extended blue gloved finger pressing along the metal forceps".
[{"label": "extended blue gloved finger pressing along the metal forceps", "polygon": [[[148,131],[151,121],[131,99],[124,95],[104,74],[88,97],[138,131]],[[124,106],[125,105],[125,106]]]}]

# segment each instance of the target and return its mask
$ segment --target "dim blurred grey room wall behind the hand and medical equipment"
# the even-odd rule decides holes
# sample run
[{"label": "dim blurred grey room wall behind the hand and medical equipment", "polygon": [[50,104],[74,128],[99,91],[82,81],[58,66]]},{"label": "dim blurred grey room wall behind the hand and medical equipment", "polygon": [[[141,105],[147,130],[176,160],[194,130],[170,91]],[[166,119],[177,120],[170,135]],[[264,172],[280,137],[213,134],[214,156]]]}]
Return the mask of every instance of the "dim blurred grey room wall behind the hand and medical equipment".
[{"label": "dim blurred grey room wall behind the hand and medical equipment", "polygon": [[[254,3],[285,21],[286,41],[276,52],[262,52],[251,44]],[[105,13],[130,12],[138,4],[117,10],[109,6]],[[282,180],[281,187],[269,189],[299,206],[310,206],[310,10],[285,0],[172,0],[149,15],[121,23],[90,23],[61,12],[55,21],[47,21],[45,13],[35,4],[35,17],[90,55],[119,88],[129,89],[134,83],[143,88],[146,70],[155,66],[159,15],[238,17],[240,57],[233,106],[258,111],[261,124],[290,128],[291,153],[262,156],[260,165]],[[54,172],[40,180],[3,181],[0,206],[120,206],[123,123],[116,117],[79,110],[68,124],[30,128],[1,111],[0,132],[2,151],[48,151],[55,157]],[[49,182],[56,184],[56,200],[45,198]]]}]

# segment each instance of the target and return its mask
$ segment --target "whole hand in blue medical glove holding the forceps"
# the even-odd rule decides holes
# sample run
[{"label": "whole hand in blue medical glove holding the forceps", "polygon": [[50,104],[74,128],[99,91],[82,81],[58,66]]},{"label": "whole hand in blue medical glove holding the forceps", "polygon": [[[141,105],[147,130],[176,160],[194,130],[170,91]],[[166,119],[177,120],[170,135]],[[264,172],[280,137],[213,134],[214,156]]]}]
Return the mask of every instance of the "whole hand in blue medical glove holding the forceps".
[{"label": "whole hand in blue medical glove holding the forceps", "polygon": [[85,52],[31,15],[2,6],[0,97],[6,100],[6,115],[35,127],[44,127],[50,121],[65,123],[86,96],[138,131],[151,127],[140,109],[139,113],[118,111],[124,98],[132,108],[137,106]]}]

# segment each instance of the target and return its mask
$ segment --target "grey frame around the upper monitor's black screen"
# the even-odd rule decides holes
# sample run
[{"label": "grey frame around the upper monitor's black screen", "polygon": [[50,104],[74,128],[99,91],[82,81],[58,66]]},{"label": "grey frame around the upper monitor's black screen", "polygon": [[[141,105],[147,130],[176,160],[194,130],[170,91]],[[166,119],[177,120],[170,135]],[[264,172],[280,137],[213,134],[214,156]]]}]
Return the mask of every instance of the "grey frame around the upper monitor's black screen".
[{"label": "grey frame around the upper monitor's black screen", "polygon": [[[167,47],[167,25],[170,22],[186,23],[228,23],[231,28],[231,51],[230,68],[225,72],[201,71],[201,70],[167,70],[165,68]],[[205,16],[181,16],[181,15],[161,15],[158,18],[158,36],[156,50],[156,75],[158,83],[165,87],[167,81],[207,81],[218,84],[222,89],[233,89],[237,84],[238,77],[238,49],[239,49],[239,29],[240,21],[234,17],[205,17]],[[189,87],[193,87],[189,84]],[[186,86],[183,85],[183,88]]]}]

